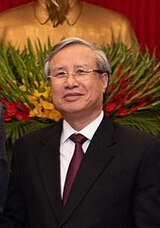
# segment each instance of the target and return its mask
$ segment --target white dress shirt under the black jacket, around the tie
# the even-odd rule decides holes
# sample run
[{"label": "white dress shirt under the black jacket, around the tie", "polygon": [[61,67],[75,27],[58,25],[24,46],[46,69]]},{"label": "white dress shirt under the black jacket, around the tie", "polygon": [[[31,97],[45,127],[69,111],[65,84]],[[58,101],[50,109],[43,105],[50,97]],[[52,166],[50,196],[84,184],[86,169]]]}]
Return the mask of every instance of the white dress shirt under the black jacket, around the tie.
[{"label": "white dress shirt under the black jacket, around the tie", "polygon": [[63,189],[66,179],[67,170],[69,167],[69,163],[71,161],[71,158],[74,153],[74,147],[75,143],[69,139],[69,137],[72,134],[80,133],[84,135],[88,140],[83,143],[83,151],[86,153],[86,150],[89,146],[89,143],[96,132],[98,126],[100,125],[102,119],[103,119],[104,113],[103,111],[101,114],[92,121],[89,125],[87,125],[85,128],[83,128],[81,131],[77,132],[75,131],[67,121],[63,121],[63,129],[62,129],[62,135],[60,140],[60,169],[61,169],[61,197],[63,196]]}]

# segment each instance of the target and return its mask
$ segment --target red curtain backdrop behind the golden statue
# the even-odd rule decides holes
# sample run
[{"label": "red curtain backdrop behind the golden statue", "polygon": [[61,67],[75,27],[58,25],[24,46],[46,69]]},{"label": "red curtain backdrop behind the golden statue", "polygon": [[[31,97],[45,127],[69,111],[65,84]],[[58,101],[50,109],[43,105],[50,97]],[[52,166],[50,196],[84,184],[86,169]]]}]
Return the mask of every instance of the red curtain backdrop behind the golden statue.
[{"label": "red curtain backdrop behind the golden statue", "polygon": [[[145,46],[151,53],[156,48],[160,58],[160,1],[159,0],[85,0],[108,7],[126,15],[136,32],[142,50]],[[0,1],[0,11],[31,2],[31,0]]]}]

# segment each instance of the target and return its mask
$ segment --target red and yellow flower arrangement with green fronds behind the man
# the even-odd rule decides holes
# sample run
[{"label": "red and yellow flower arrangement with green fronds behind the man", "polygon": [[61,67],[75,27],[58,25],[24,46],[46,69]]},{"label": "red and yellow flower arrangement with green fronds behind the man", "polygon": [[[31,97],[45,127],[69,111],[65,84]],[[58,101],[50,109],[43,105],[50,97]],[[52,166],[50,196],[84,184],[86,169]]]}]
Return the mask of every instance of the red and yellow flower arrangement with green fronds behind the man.
[{"label": "red and yellow flower arrangement with green fronds behind the man", "polygon": [[[0,45],[0,101],[4,106],[9,160],[16,139],[29,131],[54,124],[61,114],[51,102],[50,85],[43,75],[50,41],[36,48],[30,41],[20,52]],[[148,49],[128,49],[117,43],[103,46],[112,67],[104,111],[114,121],[160,137],[160,64]]]}]

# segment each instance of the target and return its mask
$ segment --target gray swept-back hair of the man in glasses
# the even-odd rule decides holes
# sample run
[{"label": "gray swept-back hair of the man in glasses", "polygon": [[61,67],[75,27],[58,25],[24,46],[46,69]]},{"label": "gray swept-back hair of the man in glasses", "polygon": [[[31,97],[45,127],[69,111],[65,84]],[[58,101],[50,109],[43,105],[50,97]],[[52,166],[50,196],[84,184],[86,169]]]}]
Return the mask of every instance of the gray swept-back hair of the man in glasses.
[{"label": "gray swept-back hair of the man in glasses", "polygon": [[62,41],[60,41],[58,44],[56,44],[51,49],[50,54],[47,57],[47,59],[45,61],[45,65],[44,65],[44,74],[46,77],[48,77],[50,75],[50,62],[52,61],[54,56],[59,51],[64,49],[65,47],[70,46],[70,45],[75,45],[75,44],[81,44],[81,45],[84,45],[86,47],[91,48],[96,54],[96,62],[97,62],[98,70],[101,73],[107,73],[108,76],[111,75],[111,67],[110,67],[110,64],[108,62],[108,59],[107,59],[104,51],[97,48],[95,45],[87,42],[86,40],[83,40],[83,39],[78,38],[78,37],[70,37],[70,38],[63,39]]}]

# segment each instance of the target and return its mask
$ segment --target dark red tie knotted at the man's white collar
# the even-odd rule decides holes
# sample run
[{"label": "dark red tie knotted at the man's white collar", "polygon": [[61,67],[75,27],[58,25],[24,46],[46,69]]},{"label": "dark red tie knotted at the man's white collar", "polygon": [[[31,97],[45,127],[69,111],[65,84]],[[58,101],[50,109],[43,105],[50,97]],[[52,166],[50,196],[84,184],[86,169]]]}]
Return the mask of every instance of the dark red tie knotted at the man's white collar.
[{"label": "dark red tie knotted at the man's white collar", "polygon": [[66,204],[68,196],[70,194],[72,184],[80,167],[81,161],[83,159],[83,149],[82,144],[87,140],[87,138],[81,134],[73,134],[70,139],[75,143],[75,150],[71,162],[69,164],[64,192],[63,192],[63,207]]}]

